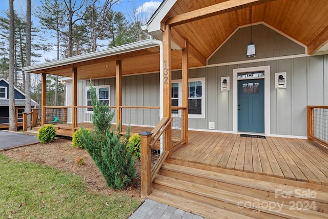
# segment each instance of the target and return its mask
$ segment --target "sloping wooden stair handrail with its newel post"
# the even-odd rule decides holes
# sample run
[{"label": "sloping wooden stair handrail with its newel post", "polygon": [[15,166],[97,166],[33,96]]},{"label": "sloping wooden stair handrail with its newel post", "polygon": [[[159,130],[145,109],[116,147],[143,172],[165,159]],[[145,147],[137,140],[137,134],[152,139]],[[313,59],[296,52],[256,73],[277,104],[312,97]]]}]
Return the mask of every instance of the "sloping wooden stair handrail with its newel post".
[{"label": "sloping wooden stair handrail with its newel post", "polygon": [[[151,194],[151,184],[162,163],[170,153],[167,144],[163,144],[162,153],[152,167],[152,147],[156,144],[161,135],[166,136],[166,132],[168,131],[167,128],[172,120],[173,117],[163,117],[152,132],[142,132],[139,134],[141,137],[141,198],[146,198]],[[163,139],[163,141],[166,142],[171,140]]]}]

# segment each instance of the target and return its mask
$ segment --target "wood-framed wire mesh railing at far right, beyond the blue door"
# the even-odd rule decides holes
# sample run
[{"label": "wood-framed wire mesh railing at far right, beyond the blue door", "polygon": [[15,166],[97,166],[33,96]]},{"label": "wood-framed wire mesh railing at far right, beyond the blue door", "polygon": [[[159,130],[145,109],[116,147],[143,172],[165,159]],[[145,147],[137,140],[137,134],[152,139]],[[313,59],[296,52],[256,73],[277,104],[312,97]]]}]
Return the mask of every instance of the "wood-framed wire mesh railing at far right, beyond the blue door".
[{"label": "wood-framed wire mesh railing at far right, beyond the blue door", "polygon": [[328,147],[328,106],[308,106],[308,140]]}]

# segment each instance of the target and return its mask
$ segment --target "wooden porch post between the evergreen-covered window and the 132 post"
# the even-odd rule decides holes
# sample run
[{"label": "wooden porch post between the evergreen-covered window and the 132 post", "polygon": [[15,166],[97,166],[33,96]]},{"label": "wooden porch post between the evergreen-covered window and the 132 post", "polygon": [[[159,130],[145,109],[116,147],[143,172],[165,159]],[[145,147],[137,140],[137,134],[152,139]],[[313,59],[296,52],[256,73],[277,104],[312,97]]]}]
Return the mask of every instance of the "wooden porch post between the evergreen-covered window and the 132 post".
[{"label": "wooden porch post between the evergreen-covered window and the 132 post", "polygon": [[121,125],[119,132],[122,131],[121,110],[122,105],[122,61],[116,60],[116,127]]}]

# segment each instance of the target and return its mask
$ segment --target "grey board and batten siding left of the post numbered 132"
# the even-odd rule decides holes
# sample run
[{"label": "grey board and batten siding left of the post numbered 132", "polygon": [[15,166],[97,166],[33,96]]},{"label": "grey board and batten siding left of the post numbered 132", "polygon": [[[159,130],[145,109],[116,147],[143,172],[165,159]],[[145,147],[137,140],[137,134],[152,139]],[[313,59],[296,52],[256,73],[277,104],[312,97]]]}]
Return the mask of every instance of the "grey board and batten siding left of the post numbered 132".
[{"label": "grey board and batten siding left of the post numbered 132", "polygon": [[[116,79],[101,78],[92,80],[94,86],[110,85],[110,106],[116,106]],[[87,105],[86,87],[90,86],[89,80],[79,80],[77,82],[77,106]],[[67,83],[66,105],[72,104],[72,83]],[[140,74],[122,77],[122,106],[159,106],[159,73]],[[124,109],[124,116],[131,124],[142,124],[145,126],[156,126],[159,121],[159,112],[155,115],[152,111],[140,110],[137,116],[136,112],[130,109]],[[159,110],[157,110],[159,111]],[[83,110],[78,117],[78,122],[91,121],[91,113],[85,113]],[[69,115],[68,115],[69,116]],[[156,120],[153,117],[156,116]],[[116,121],[114,117],[113,123]],[[123,121],[124,123],[124,121]]]}]

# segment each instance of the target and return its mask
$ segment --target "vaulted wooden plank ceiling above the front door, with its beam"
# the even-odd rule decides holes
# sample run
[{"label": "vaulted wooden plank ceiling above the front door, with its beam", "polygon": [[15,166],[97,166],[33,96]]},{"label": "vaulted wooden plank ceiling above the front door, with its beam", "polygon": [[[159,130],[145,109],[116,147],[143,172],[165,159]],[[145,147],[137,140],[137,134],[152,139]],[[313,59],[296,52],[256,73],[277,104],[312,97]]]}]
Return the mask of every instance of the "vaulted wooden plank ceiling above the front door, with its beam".
[{"label": "vaulted wooden plank ceiling above the front door, with its beam", "polygon": [[328,43],[328,4],[321,0],[177,0],[162,22],[208,58],[238,27],[250,25],[250,6],[252,23],[272,26],[308,47],[309,54]]}]

